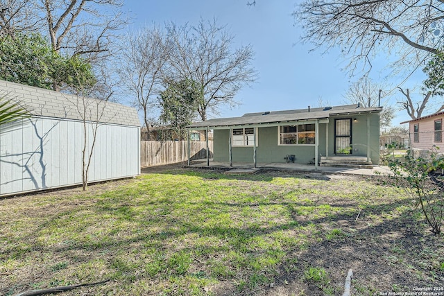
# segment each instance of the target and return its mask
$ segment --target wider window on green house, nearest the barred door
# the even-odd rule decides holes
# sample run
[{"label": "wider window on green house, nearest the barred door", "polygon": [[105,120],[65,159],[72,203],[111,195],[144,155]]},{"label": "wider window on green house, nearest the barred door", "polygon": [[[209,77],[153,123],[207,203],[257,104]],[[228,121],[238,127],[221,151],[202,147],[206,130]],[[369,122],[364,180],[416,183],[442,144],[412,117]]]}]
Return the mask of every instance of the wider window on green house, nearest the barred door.
[{"label": "wider window on green house, nearest the barred door", "polygon": [[314,124],[283,125],[279,127],[280,145],[314,144]]}]

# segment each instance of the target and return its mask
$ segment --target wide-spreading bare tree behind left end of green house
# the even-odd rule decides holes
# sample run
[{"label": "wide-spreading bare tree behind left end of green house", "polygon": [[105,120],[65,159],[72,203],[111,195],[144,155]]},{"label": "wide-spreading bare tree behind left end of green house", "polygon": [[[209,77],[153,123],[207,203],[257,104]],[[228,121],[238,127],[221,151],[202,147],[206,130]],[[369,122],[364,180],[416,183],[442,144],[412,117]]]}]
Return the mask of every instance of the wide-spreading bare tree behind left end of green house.
[{"label": "wide-spreading bare tree behind left end of green house", "polygon": [[205,121],[208,112],[217,114],[222,105],[237,105],[234,96],[257,76],[251,66],[252,47],[233,50],[234,36],[215,20],[200,20],[198,26],[171,23],[167,31],[174,49],[169,60],[171,80],[200,85],[200,119]]}]

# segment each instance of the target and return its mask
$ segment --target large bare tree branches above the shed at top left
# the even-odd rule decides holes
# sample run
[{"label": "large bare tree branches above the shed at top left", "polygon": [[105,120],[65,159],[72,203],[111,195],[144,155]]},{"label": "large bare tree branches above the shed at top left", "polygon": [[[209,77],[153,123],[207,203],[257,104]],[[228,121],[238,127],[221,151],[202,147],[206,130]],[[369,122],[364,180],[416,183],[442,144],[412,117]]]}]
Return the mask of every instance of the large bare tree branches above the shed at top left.
[{"label": "large bare tree branches above the shed at top left", "polygon": [[0,34],[38,32],[57,53],[100,68],[117,52],[128,22],[121,6],[123,0],[0,0]]}]

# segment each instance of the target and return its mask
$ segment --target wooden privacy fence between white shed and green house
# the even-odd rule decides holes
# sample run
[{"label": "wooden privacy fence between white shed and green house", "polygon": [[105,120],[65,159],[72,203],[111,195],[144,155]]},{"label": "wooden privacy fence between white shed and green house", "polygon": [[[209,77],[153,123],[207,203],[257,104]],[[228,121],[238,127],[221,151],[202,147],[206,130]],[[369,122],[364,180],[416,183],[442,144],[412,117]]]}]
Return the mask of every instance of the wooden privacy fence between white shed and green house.
[{"label": "wooden privacy fence between white shed and green house", "polygon": [[[191,159],[207,157],[205,141],[190,141]],[[188,160],[188,141],[141,141],[140,164],[147,166],[160,166],[163,164],[176,164]],[[208,142],[209,155],[212,157],[213,141]]]}]

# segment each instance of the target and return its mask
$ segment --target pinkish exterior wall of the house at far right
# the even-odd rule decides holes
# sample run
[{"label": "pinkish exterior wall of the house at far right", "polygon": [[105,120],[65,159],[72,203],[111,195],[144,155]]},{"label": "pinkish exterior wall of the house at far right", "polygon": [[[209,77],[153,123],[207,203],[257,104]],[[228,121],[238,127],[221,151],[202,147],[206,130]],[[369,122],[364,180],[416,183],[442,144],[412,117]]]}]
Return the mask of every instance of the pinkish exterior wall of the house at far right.
[{"label": "pinkish exterior wall of the house at far right", "polygon": [[[435,141],[434,138],[434,122],[436,120],[441,119],[441,124],[444,124],[444,114],[440,114],[438,116],[431,116],[425,119],[418,119],[415,121],[411,121],[409,123],[410,130],[410,142],[411,148],[413,149],[422,149],[422,150],[431,150],[433,146],[439,147],[439,152],[443,152],[444,143],[443,141]],[[419,124],[419,141],[415,142],[414,139],[414,130],[413,126]],[[442,129],[442,128],[441,128]],[[441,134],[441,139],[443,139],[443,135]]]}]

